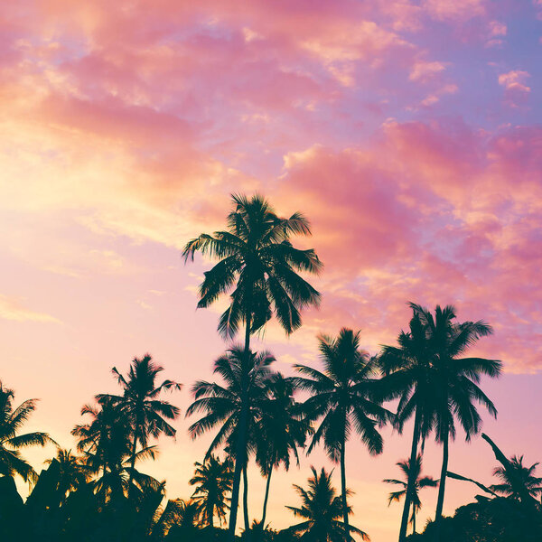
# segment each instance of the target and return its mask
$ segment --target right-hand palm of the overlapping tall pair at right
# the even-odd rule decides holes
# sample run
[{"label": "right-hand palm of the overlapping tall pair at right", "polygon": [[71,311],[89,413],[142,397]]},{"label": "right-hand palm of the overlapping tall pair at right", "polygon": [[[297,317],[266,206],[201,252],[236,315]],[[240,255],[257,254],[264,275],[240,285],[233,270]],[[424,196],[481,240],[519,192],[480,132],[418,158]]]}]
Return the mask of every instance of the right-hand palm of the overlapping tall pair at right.
[{"label": "right-hand palm of the overlapping tall pair at right", "polygon": [[454,322],[455,308],[436,306],[435,315],[418,304],[411,304],[424,325],[433,382],[434,422],[436,440],[443,444],[443,466],[438,488],[435,523],[440,532],[444,505],[444,489],[448,470],[448,444],[455,437],[455,420],[463,427],[467,441],[480,432],[481,416],[475,403],[485,406],[491,416],[497,409],[479,387],[481,376],[500,376],[502,362],[461,356],[481,337],[493,331],[486,322]]}]

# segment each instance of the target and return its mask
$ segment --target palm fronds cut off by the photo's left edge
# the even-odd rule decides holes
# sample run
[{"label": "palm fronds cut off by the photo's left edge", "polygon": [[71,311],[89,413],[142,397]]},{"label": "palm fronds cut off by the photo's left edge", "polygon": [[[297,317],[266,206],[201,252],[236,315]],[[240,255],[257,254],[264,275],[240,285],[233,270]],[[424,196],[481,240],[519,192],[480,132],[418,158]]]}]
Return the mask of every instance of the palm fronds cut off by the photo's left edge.
[{"label": "palm fronds cut off by the photo's left edge", "polygon": [[56,444],[47,433],[34,431],[19,434],[35,410],[37,400],[27,399],[14,407],[14,391],[5,388],[0,381],[0,474],[11,477],[16,474],[31,484],[37,481],[38,475],[23,459],[21,448]]}]

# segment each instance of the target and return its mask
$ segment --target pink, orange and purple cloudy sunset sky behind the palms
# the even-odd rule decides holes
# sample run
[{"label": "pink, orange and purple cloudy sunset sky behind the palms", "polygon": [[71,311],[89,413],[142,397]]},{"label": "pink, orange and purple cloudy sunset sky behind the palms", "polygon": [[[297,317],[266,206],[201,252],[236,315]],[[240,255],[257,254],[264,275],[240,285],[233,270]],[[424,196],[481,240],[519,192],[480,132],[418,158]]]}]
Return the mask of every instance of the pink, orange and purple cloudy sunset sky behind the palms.
[{"label": "pink, orange and purple cloudy sunset sky behind the palms", "polygon": [[[228,345],[223,302],[195,309],[211,263],[180,251],[223,227],[229,194],[260,192],[304,212],[313,237],[296,244],[324,264],[320,309],[289,338],[266,329],[277,369],[318,367],[318,332],[360,329],[376,353],[407,327],[408,301],[454,304],[494,328],[473,353],[504,363],[483,382],[499,410],[484,430],[541,460],[541,53],[541,0],[2,3],[0,378],[41,399],[29,429],[73,447],[80,407],[147,351],[190,404]],[[144,465],[172,498],[190,497],[210,443],[189,425]],[[381,480],[409,431],[385,429],[377,458],[347,448],[352,522],[373,542],[397,537]],[[52,453],[28,457],[40,470]],[[441,453],[427,445],[426,474]],[[274,477],[272,527],[292,522],[311,464],[333,468],[316,451]],[[451,470],[491,483],[494,465],[458,435]],[[264,482],[250,480],[259,519]],[[444,512],[475,494],[449,481]],[[418,524],[435,500],[425,490]]]}]

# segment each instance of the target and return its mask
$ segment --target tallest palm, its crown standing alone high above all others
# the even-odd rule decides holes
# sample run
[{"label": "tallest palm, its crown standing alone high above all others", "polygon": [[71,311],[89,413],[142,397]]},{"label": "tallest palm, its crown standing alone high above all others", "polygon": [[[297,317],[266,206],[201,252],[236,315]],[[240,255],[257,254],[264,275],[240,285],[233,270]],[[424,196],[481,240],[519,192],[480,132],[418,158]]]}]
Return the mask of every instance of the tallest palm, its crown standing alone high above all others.
[{"label": "tallest palm, its crown standing alone high above all others", "polygon": [[[232,195],[233,209],[227,229],[212,235],[201,234],[189,241],[182,251],[185,261],[196,252],[220,261],[204,275],[200,285],[199,308],[214,303],[221,294],[229,294],[230,304],[221,315],[219,332],[234,337],[245,325],[245,355],[250,350],[250,336],[261,330],[273,314],[287,334],[301,326],[301,310],[318,305],[320,294],[298,275],[318,273],[322,264],[313,249],[294,248],[290,238],[310,235],[308,220],[295,212],[289,219],[279,218],[268,201],[259,195],[248,198]],[[239,457],[247,447],[248,412],[238,420]],[[235,537],[238,492],[242,465],[235,463],[229,537]]]}]

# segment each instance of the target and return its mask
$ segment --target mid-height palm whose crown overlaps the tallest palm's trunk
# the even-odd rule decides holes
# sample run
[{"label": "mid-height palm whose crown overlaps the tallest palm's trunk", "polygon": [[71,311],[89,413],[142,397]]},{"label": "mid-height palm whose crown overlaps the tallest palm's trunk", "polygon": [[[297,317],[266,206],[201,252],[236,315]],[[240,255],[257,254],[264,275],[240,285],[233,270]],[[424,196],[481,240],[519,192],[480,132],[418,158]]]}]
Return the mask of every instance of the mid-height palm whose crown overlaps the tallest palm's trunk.
[{"label": "mid-height palm whose crown overlaps the tallest palm's trunk", "polygon": [[[194,401],[188,407],[186,416],[199,412],[204,414],[190,426],[189,432],[192,438],[197,438],[219,425],[220,430],[212,440],[206,457],[223,444],[229,444],[229,450],[232,447],[234,449],[235,470],[229,515],[230,535],[231,522],[233,521],[235,525],[237,518],[237,514],[233,513],[233,507],[238,507],[240,473],[246,467],[248,460],[248,435],[262,416],[267,384],[273,374],[269,366],[273,361],[275,358],[269,352],[249,351],[247,356],[241,346],[233,346],[214,362],[213,372],[224,380],[224,386],[203,380],[192,386]],[[240,451],[238,446],[232,445],[239,442],[241,438],[239,433],[243,434],[243,448]],[[238,472],[238,479],[236,479],[236,472]],[[246,517],[247,522],[248,517]],[[246,528],[248,529],[247,525]]]}]

